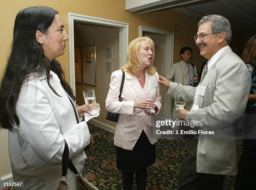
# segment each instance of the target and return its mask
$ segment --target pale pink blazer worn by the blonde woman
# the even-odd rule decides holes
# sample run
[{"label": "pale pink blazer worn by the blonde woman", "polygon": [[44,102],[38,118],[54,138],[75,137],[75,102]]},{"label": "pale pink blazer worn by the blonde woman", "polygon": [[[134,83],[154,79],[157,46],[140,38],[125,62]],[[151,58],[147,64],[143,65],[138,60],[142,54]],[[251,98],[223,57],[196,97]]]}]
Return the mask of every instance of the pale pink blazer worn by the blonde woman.
[{"label": "pale pink blazer worn by the blonde woman", "polygon": [[[156,72],[154,75],[146,73],[145,86],[142,89],[137,78],[125,72],[125,81],[122,92],[122,102],[118,101],[120,85],[122,81],[122,70],[114,71],[111,75],[110,89],[106,99],[106,109],[109,112],[119,113],[119,120],[115,128],[114,144],[126,150],[133,150],[142,130],[146,133],[148,140],[153,145],[157,138],[153,138],[151,133],[151,119],[153,116],[146,115],[143,109],[134,108],[134,102],[138,100],[155,100],[158,109],[161,109],[161,95],[158,87],[151,87],[151,81],[159,80]],[[126,117],[125,117],[126,116]],[[127,117],[128,116],[128,117]]]}]

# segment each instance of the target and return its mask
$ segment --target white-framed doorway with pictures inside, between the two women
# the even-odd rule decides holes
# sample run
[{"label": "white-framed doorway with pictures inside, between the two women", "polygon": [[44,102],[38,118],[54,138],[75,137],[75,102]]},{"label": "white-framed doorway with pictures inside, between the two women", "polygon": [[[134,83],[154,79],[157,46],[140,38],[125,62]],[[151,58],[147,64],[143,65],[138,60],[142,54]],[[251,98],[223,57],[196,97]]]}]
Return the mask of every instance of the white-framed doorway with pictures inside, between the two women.
[{"label": "white-framed doorway with pictures inside, between the two women", "polygon": [[94,89],[101,112],[90,123],[112,133],[105,99],[111,73],[126,62],[127,47],[128,23],[69,13],[70,85],[79,105],[84,104],[82,90]]}]

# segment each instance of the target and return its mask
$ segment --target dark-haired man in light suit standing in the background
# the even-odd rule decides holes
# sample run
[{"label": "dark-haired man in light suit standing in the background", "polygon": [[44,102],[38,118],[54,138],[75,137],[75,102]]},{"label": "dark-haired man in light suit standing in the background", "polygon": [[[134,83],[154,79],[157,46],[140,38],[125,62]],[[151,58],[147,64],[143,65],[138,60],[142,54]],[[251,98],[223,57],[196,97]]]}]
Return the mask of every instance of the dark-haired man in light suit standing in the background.
[{"label": "dark-haired man in light suit standing in the background", "polygon": [[[176,62],[172,65],[171,70],[165,76],[168,80],[180,83],[182,85],[193,86],[193,75],[197,73],[197,67],[191,65],[190,60],[193,56],[192,49],[190,47],[182,47],[179,51],[179,55],[182,58],[180,62]],[[192,102],[187,102],[184,109],[189,110]],[[176,106],[172,110],[172,119],[177,118]]]}]

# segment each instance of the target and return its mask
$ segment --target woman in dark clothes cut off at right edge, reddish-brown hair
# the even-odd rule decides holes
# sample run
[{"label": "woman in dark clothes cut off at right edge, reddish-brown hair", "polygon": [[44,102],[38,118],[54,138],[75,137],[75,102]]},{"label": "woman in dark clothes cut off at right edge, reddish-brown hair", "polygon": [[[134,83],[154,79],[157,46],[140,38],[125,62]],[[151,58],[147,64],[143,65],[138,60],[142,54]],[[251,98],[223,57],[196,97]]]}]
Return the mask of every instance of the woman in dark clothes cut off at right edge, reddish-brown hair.
[{"label": "woman in dark clothes cut off at right edge, reddish-brown hair", "polygon": [[[242,54],[242,59],[251,74],[251,91],[246,106],[246,114],[256,114],[256,35],[248,40]],[[247,123],[251,123],[252,118],[253,116],[248,116]],[[250,130],[253,127],[255,127],[255,123],[251,123],[251,126],[244,126],[245,134],[250,134]],[[235,190],[255,189],[255,179],[256,139],[254,137],[254,139],[245,139],[243,141],[243,153],[238,164]]]}]

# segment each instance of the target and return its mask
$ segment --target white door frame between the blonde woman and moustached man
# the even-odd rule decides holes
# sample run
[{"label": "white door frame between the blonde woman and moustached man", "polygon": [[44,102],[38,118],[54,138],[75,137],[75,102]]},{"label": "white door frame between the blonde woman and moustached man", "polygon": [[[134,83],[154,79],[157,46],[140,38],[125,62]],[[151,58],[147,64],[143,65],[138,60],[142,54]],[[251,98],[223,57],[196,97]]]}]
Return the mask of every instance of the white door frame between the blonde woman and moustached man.
[{"label": "white door frame between the blonde woman and moustached man", "polygon": [[[164,66],[164,75],[171,69],[173,64],[173,49],[174,49],[174,32],[161,30],[157,28],[150,28],[146,26],[139,26],[139,37],[143,36],[143,32],[148,32],[151,34],[158,34],[166,36],[166,46],[165,46],[165,66]],[[172,101],[171,97],[167,95],[167,90],[164,89],[164,118],[161,119],[168,119],[171,118],[172,113]],[[159,118],[160,119],[160,118]]]}]

